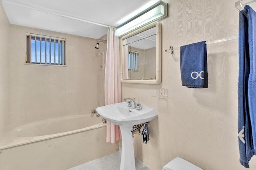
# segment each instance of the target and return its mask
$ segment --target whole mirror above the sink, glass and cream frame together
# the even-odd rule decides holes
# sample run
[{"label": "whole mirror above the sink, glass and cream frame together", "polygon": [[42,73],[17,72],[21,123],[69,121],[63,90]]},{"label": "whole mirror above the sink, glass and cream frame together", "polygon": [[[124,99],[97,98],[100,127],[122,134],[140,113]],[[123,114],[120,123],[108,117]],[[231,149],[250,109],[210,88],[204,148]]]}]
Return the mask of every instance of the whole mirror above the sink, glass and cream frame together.
[{"label": "whole mirror above the sink, glass and cream frame together", "polygon": [[159,22],[132,30],[121,38],[121,82],[159,84],[162,63]]}]

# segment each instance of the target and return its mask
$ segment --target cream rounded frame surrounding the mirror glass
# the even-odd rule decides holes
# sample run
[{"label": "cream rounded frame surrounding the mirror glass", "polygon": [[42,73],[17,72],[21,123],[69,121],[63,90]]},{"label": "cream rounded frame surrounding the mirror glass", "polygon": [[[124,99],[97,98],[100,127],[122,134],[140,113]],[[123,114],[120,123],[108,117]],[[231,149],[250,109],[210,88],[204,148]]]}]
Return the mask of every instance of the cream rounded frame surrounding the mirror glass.
[{"label": "cream rounded frame surrounding the mirror glass", "polygon": [[[146,31],[152,27],[156,27],[156,79],[155,80],[128,80],[123,79],[123,64],[124,64],[124,39],[132,37],[138,33]],[[159,22],[153,22],[138,27],[121,37],[121,66],[120,79],[125,83],[140,83],[140,84],[159,84],[162,81],[162,25]]]}]

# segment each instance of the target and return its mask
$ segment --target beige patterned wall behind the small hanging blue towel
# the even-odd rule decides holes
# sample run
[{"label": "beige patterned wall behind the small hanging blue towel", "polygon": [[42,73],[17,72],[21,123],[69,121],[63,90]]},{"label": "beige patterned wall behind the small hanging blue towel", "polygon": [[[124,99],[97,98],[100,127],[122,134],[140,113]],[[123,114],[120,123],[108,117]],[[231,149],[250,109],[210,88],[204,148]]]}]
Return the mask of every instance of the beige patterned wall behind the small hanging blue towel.
[{"label": "beige patterned wall behind the small hanging blue towel", "polygon": [[[168,17],[162,23],[162,83],[122,83],[122,98],[154,107],[158,117],[149,123],[150,141],[134,135],[136,158],[160,170],[175,157],[204,170],[246,170],[239,163],[237,129],[238,39],[207,45],[209,86],[181,85],[180,54],[169,46],[238,35],[237,0],[166,0]],[[167,88],[168,98],[154,98]],[[256,157],[250,161],[256,169]]]}]

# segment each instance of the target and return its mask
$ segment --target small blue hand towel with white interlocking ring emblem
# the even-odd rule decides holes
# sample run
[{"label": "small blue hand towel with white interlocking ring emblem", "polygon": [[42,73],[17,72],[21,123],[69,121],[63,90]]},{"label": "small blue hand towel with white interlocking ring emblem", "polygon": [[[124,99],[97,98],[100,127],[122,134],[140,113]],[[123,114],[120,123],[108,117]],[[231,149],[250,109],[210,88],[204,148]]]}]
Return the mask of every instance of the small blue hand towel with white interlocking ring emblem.
[{"label": "small blue hand towel with white interlocking ring emblem", "polygon": [[182,86],[207,88],[207,52],[205,41],[180,47],[180,72]]}]

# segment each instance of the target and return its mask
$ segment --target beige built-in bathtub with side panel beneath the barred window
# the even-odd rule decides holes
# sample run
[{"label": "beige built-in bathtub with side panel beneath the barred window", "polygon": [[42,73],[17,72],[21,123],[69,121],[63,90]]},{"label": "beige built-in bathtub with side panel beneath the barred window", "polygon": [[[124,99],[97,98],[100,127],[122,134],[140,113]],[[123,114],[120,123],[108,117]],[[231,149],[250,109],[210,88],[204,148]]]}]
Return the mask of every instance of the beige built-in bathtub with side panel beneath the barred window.
[{"label": "beige built-in bathtub with side panel beneath the barred window", "polygon": [[0,139],[0,170],[66,170],[118,150],[102,117],[73,115],[16,127]]}]

